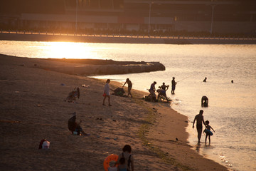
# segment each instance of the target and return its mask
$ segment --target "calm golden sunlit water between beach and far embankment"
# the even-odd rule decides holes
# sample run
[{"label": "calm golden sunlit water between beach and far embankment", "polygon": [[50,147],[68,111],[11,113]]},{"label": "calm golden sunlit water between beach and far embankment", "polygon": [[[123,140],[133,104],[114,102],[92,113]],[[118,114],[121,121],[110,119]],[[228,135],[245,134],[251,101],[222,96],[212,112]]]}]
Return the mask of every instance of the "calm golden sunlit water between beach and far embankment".
[{"label": "calm golden sunlit water between beach and far embankment", "polygon": [[[153,81],[171,85],[176,94],[171,108],[187,115],[188,141],[201,155],[232,170],[256,170],[256,45],[158,45],[117,43],[55,43],[0,41],[0,53],[31,58],[100,58],[116,61],[160,61],[166,71],[114,76],[133,88],[144,90]],[[207,82],[203,83],[203,78]],[[234,83],[230,83],[233,80]],[[124,83],[124,82],[122,82]],[[203,108],[205,120],[215,129],[211,144],[197,145],[191,122],[201,110],[201,97],[209,98]],[[201,141],[204,142],[205,135]]]}]

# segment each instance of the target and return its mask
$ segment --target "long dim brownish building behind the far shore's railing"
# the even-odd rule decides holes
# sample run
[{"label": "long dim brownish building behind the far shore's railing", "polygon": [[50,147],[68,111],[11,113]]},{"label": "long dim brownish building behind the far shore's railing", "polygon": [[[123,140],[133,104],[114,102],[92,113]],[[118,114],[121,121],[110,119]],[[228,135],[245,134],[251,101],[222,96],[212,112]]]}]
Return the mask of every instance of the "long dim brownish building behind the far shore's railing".
[{"label": "long dim brownish building behind the far shore's railing", "polygon": [[0,1],[0,29],[255,34],[256,1],[9,0]]}]

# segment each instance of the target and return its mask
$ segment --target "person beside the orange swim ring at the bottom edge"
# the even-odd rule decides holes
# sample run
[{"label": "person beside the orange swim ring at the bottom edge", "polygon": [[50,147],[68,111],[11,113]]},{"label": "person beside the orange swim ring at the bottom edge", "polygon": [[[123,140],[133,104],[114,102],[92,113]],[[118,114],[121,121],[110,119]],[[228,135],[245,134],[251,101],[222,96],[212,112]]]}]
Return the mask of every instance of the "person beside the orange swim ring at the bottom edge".
[{"label": "person beside the orange swim ring at the bottom edge", "polygon": [[[132,147],[130,145],[124,145],[124,147],[122,148],[122,151],[123,152],[119,154],[118,160],[114,165],[119,165],[120,162],[123,162],[123,160],[125,160],[124,166],[126,167],[126,170],[134,171],[134,158],[132,155]],[[122,170],[124,169],[125,168],[122,167]]]}]

